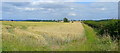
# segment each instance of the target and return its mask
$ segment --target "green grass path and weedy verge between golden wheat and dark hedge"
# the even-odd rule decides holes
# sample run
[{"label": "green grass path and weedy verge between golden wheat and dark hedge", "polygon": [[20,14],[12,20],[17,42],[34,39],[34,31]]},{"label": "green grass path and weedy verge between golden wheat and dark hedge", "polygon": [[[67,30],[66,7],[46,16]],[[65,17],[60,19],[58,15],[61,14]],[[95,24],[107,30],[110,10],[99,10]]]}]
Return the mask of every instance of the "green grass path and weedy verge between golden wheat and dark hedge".
[{"label": "green grass path and weedy verge between golden wheat and dark hedge", "polygon": [[85,36],[62,45],[58,51],[118,51],[118,43],[109,36],[98,37],[93,28],[83,24]]}]

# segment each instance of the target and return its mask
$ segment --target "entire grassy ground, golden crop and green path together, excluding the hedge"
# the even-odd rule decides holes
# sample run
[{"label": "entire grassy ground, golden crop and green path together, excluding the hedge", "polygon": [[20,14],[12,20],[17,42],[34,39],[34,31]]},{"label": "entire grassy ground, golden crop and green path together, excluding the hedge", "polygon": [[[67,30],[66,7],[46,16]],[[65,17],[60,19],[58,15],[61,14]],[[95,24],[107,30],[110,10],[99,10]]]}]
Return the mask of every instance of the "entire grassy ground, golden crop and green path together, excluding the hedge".
[{"label": "entire grassy ground, golden crop and green path together, excluding the hedge", "polygon": [[2,26],[3,51],[118,51],[116,41],[96,36],[80,22],[5,21]]}]

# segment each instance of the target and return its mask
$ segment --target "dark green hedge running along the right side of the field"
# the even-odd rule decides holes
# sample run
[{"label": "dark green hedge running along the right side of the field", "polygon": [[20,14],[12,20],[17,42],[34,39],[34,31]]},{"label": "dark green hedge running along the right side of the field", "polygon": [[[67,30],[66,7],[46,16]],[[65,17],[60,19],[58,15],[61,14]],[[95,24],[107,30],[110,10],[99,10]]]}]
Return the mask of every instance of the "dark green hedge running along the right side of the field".
[{"label": "dark green hedge running along the right side of the field", "polygon": [[120,20],[83,21],[95,28],[99,35],[110,35],[113,39],[120,39]]}]

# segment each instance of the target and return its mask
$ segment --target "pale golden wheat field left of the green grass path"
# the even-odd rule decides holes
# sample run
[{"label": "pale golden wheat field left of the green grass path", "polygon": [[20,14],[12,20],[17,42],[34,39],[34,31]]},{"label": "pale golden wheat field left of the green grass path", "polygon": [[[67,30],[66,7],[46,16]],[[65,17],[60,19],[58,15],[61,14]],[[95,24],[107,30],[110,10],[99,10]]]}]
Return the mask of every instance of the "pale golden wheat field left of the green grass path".
[{"label": "pale golden wheat field left of the green grass path", "polygon": [[55,50],[83,37],[80,22],[2,22],[2,49],[5,51]]}]

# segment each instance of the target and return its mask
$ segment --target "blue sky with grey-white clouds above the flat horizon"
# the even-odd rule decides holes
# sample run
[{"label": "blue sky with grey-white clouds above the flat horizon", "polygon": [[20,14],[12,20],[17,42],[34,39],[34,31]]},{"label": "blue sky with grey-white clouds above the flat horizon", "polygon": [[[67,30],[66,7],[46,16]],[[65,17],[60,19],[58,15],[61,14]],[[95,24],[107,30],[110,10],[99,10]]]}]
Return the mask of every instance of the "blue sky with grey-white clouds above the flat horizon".
[{"label": "blue sky with grey-white clouds above the flat horizon", "polygon": [[99,20],[118,18],[117,2],[2,2],[2,18]]}]

